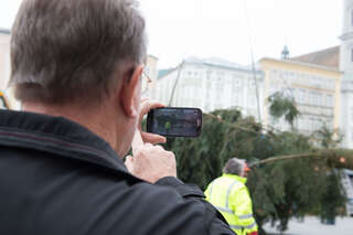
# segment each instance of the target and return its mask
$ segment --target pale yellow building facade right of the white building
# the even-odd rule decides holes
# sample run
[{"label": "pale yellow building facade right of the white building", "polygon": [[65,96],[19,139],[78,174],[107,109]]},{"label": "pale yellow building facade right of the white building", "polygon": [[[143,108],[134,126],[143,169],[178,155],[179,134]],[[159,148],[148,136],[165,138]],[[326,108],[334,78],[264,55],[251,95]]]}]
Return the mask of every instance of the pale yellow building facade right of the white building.
[{"label": "pale yellow building facade right of the white building", "polygon": [[[263,58],[259,67],[265,73],[265,97],[281,93],[295,100],[300,111],[295,126],[300,132],[309,135],[323,125],[339,128],[342,73],[338,68],[289,58]],[[265,104],[264,124],[290,130],[284,118],[275,120],[269,116],[269,104]]]}]

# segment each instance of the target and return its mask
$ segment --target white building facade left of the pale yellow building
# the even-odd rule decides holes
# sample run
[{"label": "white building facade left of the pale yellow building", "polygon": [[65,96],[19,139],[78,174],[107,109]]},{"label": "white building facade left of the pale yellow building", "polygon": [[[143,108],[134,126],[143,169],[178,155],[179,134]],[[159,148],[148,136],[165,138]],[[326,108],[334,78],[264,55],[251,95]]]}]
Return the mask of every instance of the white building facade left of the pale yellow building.
[{"label": "white building facade left of the pale yellow building", "polygon": [[149,96],[165,105],[197,107],[204,113],[237,108],[256,118],[258,110],[264,111],[263,73],[220,58],[188,58],[176,68],[161,71],[154,83]]}]

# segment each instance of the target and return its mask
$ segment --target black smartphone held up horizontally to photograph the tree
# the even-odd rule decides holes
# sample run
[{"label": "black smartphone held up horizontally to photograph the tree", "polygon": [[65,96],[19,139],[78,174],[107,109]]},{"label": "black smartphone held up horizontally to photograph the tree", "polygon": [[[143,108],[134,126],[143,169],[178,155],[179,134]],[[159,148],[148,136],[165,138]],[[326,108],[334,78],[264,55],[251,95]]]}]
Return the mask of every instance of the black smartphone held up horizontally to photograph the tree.
[{"label": "black smartphone held up horizontally to photograph the tree", "polygon": [[147,116],[147,131],[164,137],[199,137],[201,129],[199,108],[157,108]]}]

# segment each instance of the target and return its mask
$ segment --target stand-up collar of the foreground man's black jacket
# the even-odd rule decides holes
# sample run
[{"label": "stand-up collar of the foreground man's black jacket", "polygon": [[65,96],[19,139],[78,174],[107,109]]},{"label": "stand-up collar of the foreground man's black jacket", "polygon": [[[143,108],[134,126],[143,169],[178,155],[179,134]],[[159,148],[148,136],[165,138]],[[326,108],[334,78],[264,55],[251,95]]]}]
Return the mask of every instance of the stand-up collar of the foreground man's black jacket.
[{"label": "stand-up collar of the foreground man's black jacket", "polygon": [[128,173],[108,142],[63,117],[0,110],[0,146],[36,149]]}]

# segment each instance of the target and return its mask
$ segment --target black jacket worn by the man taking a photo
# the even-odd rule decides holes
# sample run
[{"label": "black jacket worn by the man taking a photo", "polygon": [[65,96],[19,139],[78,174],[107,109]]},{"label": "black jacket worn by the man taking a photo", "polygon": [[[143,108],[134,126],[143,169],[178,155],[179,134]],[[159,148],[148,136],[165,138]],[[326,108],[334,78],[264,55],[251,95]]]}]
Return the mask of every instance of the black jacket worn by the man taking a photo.
[{"label": "black jacket worn by the man taking a photo", "polygon": [[234,234],[196,186],[157,184],[75,122],[0,111],[1,235]]}]

